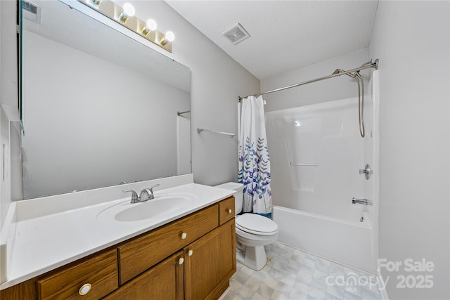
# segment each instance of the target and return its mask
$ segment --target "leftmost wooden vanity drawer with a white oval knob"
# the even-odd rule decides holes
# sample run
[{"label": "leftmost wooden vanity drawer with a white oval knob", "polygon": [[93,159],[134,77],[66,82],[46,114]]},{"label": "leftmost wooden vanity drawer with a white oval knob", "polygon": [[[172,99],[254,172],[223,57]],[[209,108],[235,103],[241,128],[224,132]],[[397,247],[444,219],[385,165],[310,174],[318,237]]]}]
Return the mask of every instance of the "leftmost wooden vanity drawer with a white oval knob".
[{"label": "leftmost wooden vanity drawer with a white oval knob", "polygon": [[[87,294],[79,291],[91,285]],[[118,287],[116,249],[37,280],[38,299],[99,299]]]}]

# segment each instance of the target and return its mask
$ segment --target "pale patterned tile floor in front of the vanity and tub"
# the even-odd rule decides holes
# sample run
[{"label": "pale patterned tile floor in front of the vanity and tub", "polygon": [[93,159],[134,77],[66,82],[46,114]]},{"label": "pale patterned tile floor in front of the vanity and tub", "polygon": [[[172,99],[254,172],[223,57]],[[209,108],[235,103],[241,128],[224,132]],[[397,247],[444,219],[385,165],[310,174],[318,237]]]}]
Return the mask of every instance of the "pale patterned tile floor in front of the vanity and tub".
[{"label": "pale patterned tile floor in front of the vanity and tub", "polygon": [[221,300],[382,299],[373,275],[302,252],[280,242],[266,246],[269,261],[255,271],[238,263]]}]

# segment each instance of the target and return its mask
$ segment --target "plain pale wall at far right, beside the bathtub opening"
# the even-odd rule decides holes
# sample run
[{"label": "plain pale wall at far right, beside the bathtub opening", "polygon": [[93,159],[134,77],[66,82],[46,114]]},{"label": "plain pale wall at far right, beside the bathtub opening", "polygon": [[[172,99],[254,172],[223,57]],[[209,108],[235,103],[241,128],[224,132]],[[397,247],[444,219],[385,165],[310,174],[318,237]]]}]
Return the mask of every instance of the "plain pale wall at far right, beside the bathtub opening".
[{"label": "plain pale wall at far right, beside the bathtub opening", "polygon": [[[449,299],[449,1],[380,1],[380,259],[390,299]],[[407,272],[405,259],[434,269]],[[431,275],[432,288],[397,287]]]}]

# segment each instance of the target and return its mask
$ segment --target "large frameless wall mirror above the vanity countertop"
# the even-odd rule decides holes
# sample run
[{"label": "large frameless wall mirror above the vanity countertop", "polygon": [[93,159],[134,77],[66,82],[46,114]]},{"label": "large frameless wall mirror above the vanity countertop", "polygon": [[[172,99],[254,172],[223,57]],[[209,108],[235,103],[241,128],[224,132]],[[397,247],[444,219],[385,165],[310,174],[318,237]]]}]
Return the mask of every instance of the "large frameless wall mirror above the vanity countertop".
[{"label": "large frameless wall mirror above the vanity countertop", "polygon": [[41,18],[23,10],[24,198],[191,173],[190,70],[60,1],[32,4]]}]

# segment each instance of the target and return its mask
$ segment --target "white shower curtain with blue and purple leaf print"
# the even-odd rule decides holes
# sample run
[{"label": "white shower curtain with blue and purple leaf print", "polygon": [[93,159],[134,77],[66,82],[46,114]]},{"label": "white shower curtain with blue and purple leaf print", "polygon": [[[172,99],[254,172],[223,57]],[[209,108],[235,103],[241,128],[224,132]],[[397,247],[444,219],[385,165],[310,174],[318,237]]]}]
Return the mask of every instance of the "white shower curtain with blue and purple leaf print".
[{"label": "white shower curtain with blue and purple leaf print", "polygon": [[243,212],[271,217],[270,158],[262,96],[242,101],[238,137],[238,182],[244,185]]}]

